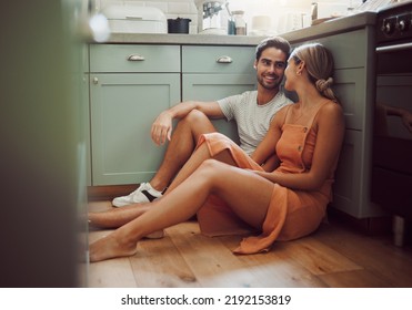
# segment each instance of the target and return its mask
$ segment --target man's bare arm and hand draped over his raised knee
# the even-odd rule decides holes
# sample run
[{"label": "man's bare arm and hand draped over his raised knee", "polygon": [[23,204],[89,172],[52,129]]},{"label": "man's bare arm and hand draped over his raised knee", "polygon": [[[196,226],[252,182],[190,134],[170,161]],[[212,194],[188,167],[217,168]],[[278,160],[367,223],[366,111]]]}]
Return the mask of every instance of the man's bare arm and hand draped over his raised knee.
[{"label": "man's bare arm and hand draped over his raised knee", "polygon": [[155,144],[161,145],[171,140],[174,118],[183,118],[191,111],[199,110],[210,118],[222,118],[224,116],[218,102],[185,101],[169,110],[163,111],[154,120],[151,128],[151,136]]}]

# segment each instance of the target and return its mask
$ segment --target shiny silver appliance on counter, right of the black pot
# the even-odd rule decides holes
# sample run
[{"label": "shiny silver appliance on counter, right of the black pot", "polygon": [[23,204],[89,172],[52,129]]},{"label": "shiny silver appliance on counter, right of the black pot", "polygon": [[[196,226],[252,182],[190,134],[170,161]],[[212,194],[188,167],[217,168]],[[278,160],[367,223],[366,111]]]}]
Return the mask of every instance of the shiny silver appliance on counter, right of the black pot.
[{"label": "shiny silver appliance on counter, right of the black pot", "polygon": [[227,34],[229,17],[225,0],[195,0],[198,8],[198,32]]}]

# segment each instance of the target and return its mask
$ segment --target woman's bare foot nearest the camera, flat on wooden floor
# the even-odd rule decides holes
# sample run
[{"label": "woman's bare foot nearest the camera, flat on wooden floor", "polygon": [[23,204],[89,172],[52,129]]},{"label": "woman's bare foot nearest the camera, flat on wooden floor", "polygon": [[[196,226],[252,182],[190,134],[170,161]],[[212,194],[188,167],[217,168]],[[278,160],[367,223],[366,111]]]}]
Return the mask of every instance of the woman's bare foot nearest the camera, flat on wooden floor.
[{"label": "woman's bare foot nearest the camera, flat on wooden floor", "polygon": [[133,256],[137,251],[135,244],[120,244],[111,234],[89,246],[89,259],[90,262],[94,262],[115,257]]}]

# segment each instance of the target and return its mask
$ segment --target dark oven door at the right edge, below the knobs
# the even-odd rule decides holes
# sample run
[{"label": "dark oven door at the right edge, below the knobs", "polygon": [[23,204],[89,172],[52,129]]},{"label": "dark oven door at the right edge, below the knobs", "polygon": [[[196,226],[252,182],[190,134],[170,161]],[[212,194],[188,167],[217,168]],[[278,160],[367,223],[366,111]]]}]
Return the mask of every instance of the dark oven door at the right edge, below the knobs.
[{"label": "dark oven door at the right edge, below the knobs", "polygon": [[376,49],[372,202],[412,219],[412,43]]}]

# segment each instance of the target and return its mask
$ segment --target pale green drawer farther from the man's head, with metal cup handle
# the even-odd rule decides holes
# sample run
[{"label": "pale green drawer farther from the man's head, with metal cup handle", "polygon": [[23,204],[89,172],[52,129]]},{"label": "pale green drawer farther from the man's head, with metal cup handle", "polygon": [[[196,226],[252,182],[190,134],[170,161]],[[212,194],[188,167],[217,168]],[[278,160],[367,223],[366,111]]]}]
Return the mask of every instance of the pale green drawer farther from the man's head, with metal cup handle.
[{"label": "pale green drawer farther from the man's head, with metal cup handle", "polygon": [[90,45],[91,72],[180,72],[180,46]]}]

